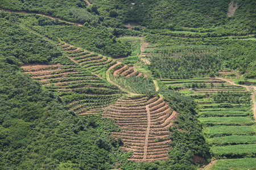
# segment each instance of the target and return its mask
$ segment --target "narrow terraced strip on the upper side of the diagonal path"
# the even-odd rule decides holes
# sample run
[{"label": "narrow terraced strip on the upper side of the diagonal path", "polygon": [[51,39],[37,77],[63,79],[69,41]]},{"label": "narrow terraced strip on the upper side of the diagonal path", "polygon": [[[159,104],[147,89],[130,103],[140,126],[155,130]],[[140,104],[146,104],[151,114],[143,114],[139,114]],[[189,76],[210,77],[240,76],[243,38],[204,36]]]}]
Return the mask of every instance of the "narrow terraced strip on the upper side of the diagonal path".
[{"label": "narrow terraced strip on the upper side of the diagonal path", "polygon": [[79,65],[85,67],[89,71],[100,75],[102,77],[106,77],[106,71],[108,69],[114,70],[114,75],[121,76],[141,76],[141,73],[138,73],[137,70],[134,70],[127,65],[123,65],[121,62],[117,62],[115,59],[110,57],[101,56],[100,54],[91,53],[86,50],[82,50],[80,48],[76,48],[75,46],[69,44],[60,44],[61,47],[68,53],[68,57]]}]

